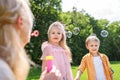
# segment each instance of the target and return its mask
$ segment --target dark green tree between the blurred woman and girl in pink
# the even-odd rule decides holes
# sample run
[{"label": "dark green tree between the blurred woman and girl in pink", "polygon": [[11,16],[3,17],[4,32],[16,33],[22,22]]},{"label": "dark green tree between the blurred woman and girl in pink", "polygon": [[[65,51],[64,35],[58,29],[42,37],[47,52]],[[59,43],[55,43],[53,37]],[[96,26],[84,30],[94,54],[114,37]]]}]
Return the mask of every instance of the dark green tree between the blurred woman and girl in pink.
[{"label": "dark green tree between the blurred woman and girl in pink", "polygon": [[49,25],[59,20],[61,13],[61,0],[31,0],[31,9],[34,14],[34,30],[39,31],[38,37],[31,37],[30,43],[25,47],[31,59],[40,64],[41,44],[47,40],[47,30]]}]

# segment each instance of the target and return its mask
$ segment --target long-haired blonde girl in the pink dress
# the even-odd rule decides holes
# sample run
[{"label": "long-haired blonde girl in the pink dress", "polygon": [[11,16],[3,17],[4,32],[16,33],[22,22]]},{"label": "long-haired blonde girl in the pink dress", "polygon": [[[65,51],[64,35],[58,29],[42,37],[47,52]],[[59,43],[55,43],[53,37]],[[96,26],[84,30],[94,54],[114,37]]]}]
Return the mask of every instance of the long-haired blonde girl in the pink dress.
[{"label": "long-haired blonde girl in the pink dress", "polygon": [[[54,22],[48,29],[48,41],[42,44],[42,76],[40,80],[73,80],[71,52],[66,44],[64,26]],[[46,56],[53,56],[53,69],[46,72]]]}]

